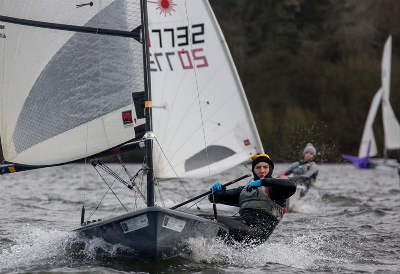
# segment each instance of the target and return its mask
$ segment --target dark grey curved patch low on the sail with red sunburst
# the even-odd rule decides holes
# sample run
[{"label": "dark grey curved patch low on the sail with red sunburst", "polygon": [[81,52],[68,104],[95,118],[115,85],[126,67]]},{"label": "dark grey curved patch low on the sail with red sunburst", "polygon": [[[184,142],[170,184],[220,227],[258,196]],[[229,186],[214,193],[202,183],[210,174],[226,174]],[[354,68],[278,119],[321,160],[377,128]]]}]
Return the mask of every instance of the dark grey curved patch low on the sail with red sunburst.
[{"label": "dark grey curved patch low on the sail with red sunburst", "polygon": [[[207,152],[209,162],[207,161]],[[208,163],[211,164],[223,160],[234,154],[235,152],[228,147],[220,145],[210,145],[207,147],[207,151],[204,148],[200,152],[188,158],[184,163],[184,169],[187,172],[190,170],[201,168],[208,165]]]}]

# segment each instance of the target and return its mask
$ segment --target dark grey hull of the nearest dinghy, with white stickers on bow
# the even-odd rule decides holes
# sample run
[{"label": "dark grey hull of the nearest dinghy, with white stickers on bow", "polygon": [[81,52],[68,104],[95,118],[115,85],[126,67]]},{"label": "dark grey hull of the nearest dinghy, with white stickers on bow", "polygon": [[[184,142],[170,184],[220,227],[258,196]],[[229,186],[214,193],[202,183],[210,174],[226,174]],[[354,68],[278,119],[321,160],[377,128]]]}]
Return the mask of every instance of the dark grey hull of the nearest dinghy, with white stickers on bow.
[{"label": "dark grey hull of the nearest dinghy, with white stickers on bow", "polygon": [[181,254],[189,238],[215,238],[220,229],[228,230],[223,224],[192,214],[147,207],[73,231],[126,246],[124,256],[158,260]]}]

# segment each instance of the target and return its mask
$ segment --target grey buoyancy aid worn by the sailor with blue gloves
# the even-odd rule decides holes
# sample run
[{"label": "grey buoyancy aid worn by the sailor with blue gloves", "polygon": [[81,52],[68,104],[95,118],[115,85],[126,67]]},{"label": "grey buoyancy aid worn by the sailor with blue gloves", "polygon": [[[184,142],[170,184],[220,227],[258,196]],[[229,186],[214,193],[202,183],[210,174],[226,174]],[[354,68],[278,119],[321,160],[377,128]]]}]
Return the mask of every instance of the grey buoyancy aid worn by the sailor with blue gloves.
[{"label": "grey buoyancy aid worn by the sailor with blue gloves", "polygon": [[248,192],[244,187],[240,192],[239,204],[240,212],[246,209],[258,209],[268,213],[271,216],[277,218],[281,221],[283,214],[285,213],[285,208],[274,202],[267,194],[267,189],[264,186],[260,186],[257,189]]}]

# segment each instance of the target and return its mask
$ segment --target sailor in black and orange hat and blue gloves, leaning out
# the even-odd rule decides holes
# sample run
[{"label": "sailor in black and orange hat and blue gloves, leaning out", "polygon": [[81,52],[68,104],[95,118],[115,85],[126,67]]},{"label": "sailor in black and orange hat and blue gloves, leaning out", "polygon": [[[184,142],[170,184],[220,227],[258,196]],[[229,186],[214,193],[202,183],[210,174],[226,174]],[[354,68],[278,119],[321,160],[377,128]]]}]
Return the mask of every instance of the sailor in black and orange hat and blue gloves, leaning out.
[{"label": "sailor in black and orange hat and blue gloves, leaning out", "polygon": [[[274,179],[274,164],[267,154],[252,158],[254,181],[234,189],[222,188],[220,183],[212,185],[210,202],[237,206],[239,216],[218,216],[218,222],[229,228],[228,241],[263,243],[272,234],[286,212],[286,199],[296,191],[292,179]],[[220,236],[226,236],[221,233]]]}]

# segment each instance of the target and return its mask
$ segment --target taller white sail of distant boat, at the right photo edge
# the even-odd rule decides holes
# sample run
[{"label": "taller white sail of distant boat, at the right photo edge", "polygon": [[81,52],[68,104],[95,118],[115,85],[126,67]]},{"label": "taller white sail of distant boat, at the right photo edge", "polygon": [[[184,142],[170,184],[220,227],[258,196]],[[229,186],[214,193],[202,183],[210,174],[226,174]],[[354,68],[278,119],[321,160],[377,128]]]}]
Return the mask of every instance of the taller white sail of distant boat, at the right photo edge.
[{"label": "taller white sail of distant boat, at the right photo edge", "polygon": [[385,146],[387,149],[400,149],[400,123],[396,119],[390,104],[391,74],[391,35],[383,48],[382,56],[382,115]]}]

